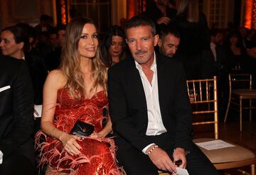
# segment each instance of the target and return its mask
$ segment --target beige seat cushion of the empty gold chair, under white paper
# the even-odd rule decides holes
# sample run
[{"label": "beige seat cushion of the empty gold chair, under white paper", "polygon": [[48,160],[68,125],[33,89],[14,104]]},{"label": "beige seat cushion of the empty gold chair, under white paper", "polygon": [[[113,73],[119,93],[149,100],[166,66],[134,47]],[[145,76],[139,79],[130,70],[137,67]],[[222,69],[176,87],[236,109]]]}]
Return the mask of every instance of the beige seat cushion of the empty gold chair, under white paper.
[{"label": "beige seat cushion of the empty gold chair, under white paper", "polygon": [[[201,139],[195,139],[193,142],[208,142],[213,141],[215,139],[213,138],[201,138]],[[228,142],[230,143],[230,142]],[[233,143],[230,143],[231,145],[235,145]],[[237,162],[245,159],[252,159],[255,158],[255,154],[251,152],[250,150],[240,147],[239,145],[235,145],[235,147],[225,147],[221,149],[214,149],[214,150],[207,150],[202,147],[200,147],[202,152],[206,154],[206,157],[210,159],[210,162],[213,164],[217,163],[225,163],[225,162]]]}]

